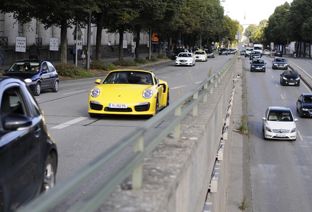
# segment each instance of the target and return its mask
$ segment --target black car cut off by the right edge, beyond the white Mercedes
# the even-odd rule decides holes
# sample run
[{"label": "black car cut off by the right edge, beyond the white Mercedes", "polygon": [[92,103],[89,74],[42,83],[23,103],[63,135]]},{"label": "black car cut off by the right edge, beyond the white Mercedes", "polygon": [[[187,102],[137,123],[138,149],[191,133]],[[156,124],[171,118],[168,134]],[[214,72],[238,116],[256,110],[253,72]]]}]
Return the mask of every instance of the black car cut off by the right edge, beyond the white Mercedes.
[{"label": "black car cut off by the right edge, beyond the white Mercedes", "polygon": [[312,93],[303,93],[297,101],[297,112],[300,118],[312,117]]}]

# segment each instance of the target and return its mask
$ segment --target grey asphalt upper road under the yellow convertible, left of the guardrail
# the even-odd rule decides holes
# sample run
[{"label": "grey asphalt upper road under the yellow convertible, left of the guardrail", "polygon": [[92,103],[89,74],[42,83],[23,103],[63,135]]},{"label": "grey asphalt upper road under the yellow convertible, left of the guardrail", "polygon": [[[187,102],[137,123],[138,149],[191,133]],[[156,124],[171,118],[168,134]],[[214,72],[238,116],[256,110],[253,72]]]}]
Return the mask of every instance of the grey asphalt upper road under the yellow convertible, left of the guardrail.
[{"label": "grey asphalt upper road under the yellow convertible, left of the guardrail", "polygon": [[[174,103],[185,92],[192,90],[198,83],[207,79],[209,73],[219,70],[232,57],[233,55],[216,55],[215,58],[208,58],[207,62],[196,62],[193,67],[175,67],[174,60],[168,60],[138,69],[152,70],[159,79],[167,81],[170,87],[170,103]],[[36,97],[39,106],[44,111],[48,130],[58,147],[57,182],[135,131],[147,120],[147,117],[137,116],[90,118],[87,113],[88,93],[95,86],[95,79],[62,79],[57,93],[42,91],[40,96]],[[155,130],[148,132],[146,136],[157,133],[161,130],[162,124],[167,121],[170,121],[170,117],[160,122]],[[116,161],[95,174],[52,211],[66,211],[116,164],[124,160],[132,149],[133,147],[126,149]]]}]

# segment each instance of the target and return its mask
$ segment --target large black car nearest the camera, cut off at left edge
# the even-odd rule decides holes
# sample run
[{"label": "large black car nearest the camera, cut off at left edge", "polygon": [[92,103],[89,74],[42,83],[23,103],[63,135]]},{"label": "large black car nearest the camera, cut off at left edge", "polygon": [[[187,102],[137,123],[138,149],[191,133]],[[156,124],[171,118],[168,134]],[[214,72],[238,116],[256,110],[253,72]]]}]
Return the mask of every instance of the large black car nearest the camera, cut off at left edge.
[{"label": "large black car nearest the camera, cut off at left edge", "polygon": [[0,212],[12,212],[54,186],[57,149],[24,81],[0,76],[0,101]]}]

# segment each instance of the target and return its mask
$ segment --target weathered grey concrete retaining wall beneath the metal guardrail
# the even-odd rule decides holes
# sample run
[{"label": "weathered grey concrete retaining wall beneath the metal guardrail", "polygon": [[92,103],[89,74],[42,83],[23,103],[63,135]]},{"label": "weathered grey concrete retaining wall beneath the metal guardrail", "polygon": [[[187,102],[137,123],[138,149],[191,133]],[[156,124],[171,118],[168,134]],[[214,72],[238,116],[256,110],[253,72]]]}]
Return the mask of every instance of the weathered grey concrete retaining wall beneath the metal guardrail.
[{"label": "weathered grey concrete retaining wall beneath the metal guardrail", "polygon": [[201,212],[207,199],[213,205],[211,211],[225,211],[230,133],[224,158],[217,161],[220,163],[217,192],[208,193],[208,189],[233,94],[235,66],[236,61],[218,88],[208,95],[208,103],[199,104],[200,116],[189,114],[183,120],[181,138],[169,135],[145,159],[142,189],[119,186],[99,212]]}]

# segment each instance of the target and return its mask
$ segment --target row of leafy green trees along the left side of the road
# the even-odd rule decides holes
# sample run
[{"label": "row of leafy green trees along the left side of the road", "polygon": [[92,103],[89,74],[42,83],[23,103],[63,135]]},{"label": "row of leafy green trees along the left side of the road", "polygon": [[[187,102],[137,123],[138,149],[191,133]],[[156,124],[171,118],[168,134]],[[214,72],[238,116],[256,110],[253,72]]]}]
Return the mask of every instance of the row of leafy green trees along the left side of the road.
[{"label": "row of leafy green trees along the left side of the road", "polygon": [[[182,38],[184,44],[203,45],[218,41],[221,37],[235,42],[238,27],[236,21],[224,16],[220,0],[0,0],[1,12],[12,13],[19,23],[33,19],[61,28],[61,62],[66,62],[67,28],[85,27],[92,13],[92,23],[98,27],[96,35],[96,58],[101,55],[101,35],[106,29],[119,33],[122,45],[124,32],[156,31],[161,41],[169,37],[173,42]],[[138,43],[137,43],[138,44]],[[122,51],[122,48],[119,48]],[[121,54],[122,56],[122,54]]]}]

